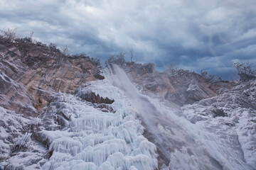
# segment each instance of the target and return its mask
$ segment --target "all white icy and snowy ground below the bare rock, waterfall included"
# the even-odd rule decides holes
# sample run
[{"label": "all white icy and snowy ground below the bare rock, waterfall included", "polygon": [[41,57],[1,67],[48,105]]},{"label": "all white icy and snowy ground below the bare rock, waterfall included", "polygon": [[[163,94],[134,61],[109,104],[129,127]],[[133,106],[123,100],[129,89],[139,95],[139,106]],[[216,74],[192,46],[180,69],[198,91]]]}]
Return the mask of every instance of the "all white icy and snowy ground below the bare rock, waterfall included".
[{"label": "all white icy and snowy ground below the bare rock, waterfall included", "polygon": [[[53,94],[55,100],[38,118],[0,108],[1,166],[256,169],[256,81],[225,89],[176,113],[142,95],[118,66],[106,68],[104,74],[104,80],[80,86],[75,95]],[[103,111],[102,105],[83,100],[85,94],[114,102],[105,103]]]}]

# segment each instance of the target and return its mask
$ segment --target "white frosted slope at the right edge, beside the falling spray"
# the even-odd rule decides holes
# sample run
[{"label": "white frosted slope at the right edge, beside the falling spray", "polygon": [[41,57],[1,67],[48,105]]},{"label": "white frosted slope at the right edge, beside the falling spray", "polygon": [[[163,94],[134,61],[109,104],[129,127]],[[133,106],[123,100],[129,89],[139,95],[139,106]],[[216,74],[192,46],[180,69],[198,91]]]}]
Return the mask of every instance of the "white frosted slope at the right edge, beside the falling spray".
[{"label": "white frosted slope at the right edge, beside the falling spray", "polygon": [[[256,169],[255,90],[255,81],[242,83],[182,108],[191,123],[208,132],[203,138],[206,147],[220,153],[224,167]],[[216,109],[226,115],[214,117]]]}]

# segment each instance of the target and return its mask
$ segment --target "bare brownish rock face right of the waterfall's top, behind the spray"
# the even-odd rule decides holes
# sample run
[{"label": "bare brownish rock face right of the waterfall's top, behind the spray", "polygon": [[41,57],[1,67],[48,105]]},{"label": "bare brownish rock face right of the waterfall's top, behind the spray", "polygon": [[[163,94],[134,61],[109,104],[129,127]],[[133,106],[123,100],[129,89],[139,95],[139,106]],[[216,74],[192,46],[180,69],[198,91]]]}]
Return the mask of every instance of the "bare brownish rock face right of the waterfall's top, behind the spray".
[{"label": "bare brownish rock face right of the waterfall's top, behind the spray", "polygon": [[183,69],[167,69],[156,72],[154,64],[123,64],[129,78],[149,96],[158,96],[176,106],[192,104],[203,98],[215,96],[223,86],[233,87],[228,81],[210,82],[196,72]]}]

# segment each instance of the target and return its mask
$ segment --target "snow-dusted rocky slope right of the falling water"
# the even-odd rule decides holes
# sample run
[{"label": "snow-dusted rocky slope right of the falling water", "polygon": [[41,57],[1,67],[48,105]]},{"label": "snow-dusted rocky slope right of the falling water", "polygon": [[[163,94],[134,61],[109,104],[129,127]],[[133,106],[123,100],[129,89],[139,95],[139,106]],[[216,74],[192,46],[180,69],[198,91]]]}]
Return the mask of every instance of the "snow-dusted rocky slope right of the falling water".
[{"label": "snow-dusted rocky slope right of the falling water", "polygon": [[228,139],[222,145],[242,150],[242,159],[256,169],[256,80],[223,88],[218,93],[181,107],[182,113],[191,123]]}]

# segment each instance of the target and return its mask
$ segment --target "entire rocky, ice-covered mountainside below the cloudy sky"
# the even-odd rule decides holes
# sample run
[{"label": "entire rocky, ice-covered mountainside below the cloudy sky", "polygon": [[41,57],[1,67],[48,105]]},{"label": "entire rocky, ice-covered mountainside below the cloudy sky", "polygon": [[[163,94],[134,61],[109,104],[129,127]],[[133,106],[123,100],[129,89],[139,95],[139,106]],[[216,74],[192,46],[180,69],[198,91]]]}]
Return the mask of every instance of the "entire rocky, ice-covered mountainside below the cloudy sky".
[{"label": "entire rocky, ice-covered mountainside below the cloudy sky", "polygon": [[0,169],[256,169],[256,80],[0,40]]}]

